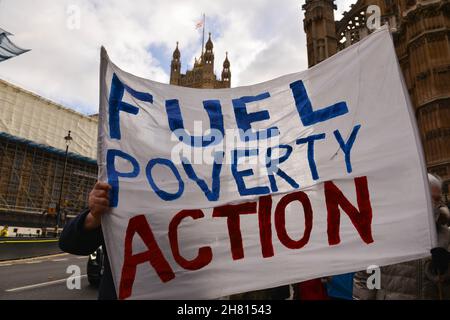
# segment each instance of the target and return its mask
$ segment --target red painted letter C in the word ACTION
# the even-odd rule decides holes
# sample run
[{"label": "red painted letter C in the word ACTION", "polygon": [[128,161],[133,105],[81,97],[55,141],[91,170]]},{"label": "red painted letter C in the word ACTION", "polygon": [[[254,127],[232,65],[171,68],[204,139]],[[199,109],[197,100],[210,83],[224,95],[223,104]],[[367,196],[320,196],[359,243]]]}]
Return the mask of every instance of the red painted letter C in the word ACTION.
[{"label": "red painted letter C in the word ACTION", "polygon": [[198,270],[208,265],[212,260],[212,250],[210,247],[202,247],[198,250],[198,255],[194,260],[186,260],[180,254],[178,246],[178,226],[184,218],[191,217],[196,220],[203,218],[202,210],[183,210],[177,213],[169,225],[169,240],[172,254],[175,261],[186,270]]}]

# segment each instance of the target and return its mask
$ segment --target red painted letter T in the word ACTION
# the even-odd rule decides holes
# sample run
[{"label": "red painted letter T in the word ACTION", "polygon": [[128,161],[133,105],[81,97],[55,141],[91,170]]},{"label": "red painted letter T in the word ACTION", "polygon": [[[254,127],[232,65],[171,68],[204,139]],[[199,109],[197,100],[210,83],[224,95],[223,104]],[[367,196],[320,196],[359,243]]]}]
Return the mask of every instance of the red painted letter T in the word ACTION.
[{"label": "red painted letter T in the word ACTION", "polygon": [[246,202],[237,205],[226,205],[214,208],[213,217],[226,217],[228,234],[230,236],[231,254],[233,260],[244,258],[244,247],[241,234],[241,214],[256,213],[256,202]]}]

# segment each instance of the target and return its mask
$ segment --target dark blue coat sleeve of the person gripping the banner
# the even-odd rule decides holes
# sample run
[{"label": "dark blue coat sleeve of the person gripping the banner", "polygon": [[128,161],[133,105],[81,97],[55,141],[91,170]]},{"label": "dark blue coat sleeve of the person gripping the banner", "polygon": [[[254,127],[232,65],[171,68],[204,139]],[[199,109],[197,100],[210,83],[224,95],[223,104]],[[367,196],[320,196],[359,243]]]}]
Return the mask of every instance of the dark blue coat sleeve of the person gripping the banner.
[{"label": "dark blue coat sleeve of the person gripping the banner", "polygon": [[59,237],[59,247],[62,251],[87,256],[103,245],[101,227],[92,231],[84,230],[84,220],[88,213],[89,210],[82,212],[64,227]]}]

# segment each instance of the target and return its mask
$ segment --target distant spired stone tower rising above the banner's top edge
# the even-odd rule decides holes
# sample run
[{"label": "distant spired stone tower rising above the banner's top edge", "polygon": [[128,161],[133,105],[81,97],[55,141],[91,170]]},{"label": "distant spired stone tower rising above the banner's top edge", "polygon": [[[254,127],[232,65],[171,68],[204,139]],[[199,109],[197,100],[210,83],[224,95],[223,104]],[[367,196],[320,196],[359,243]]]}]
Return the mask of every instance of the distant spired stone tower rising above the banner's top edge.
[{"label": "distant spired stone tower rising above the banner's top edge", "polygon": [[[230,88],[231,71],[228,53],[223,62],[222,79],[218,80],[214,74],[214,52],[211,33],[205,45],[205,52],[202,52],[200,58],[195,58],[194,68],[181,73],[181,53],[178,49],[178,42],[173,52],[172,63],[170,66],[170,84],[203,89]],[[203,51],[203,50],[202,50]]]}]

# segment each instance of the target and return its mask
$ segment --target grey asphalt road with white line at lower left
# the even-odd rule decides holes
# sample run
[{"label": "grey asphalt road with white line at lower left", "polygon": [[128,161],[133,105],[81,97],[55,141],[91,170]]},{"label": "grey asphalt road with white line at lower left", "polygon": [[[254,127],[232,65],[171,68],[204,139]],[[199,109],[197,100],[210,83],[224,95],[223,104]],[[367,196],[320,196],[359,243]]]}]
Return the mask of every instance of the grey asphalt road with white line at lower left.
[{"label": "grey asphalt road with white line at lower left", "polygon": [[[0,300],[96,300],[98,290],[86,276],[87,260],[63,253],[0,262]],[[68,282],[75,288],[69,289]]]}]

